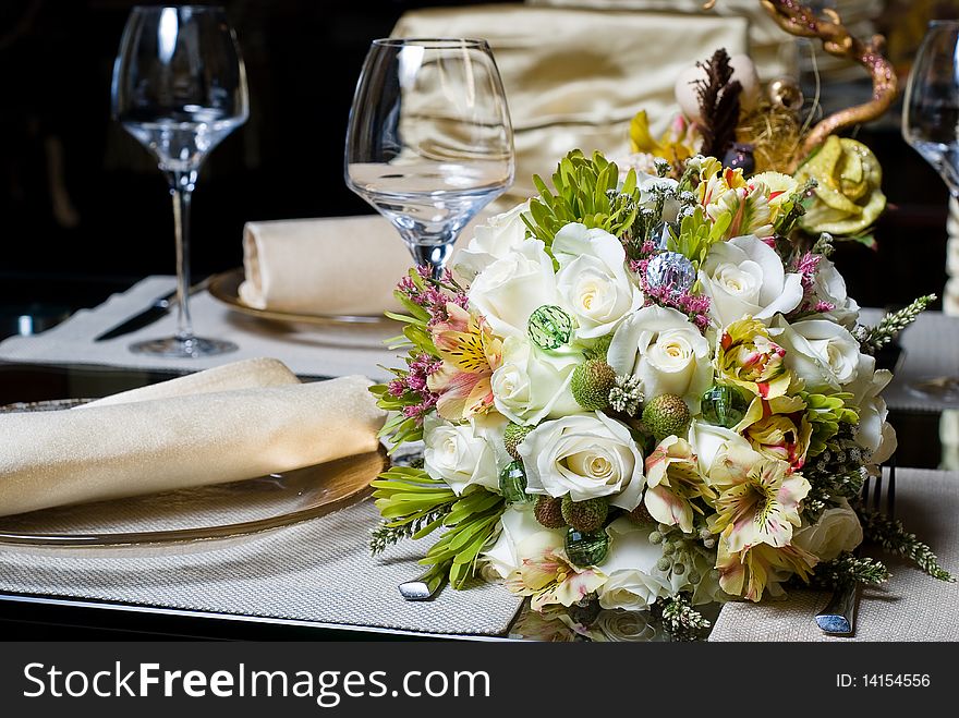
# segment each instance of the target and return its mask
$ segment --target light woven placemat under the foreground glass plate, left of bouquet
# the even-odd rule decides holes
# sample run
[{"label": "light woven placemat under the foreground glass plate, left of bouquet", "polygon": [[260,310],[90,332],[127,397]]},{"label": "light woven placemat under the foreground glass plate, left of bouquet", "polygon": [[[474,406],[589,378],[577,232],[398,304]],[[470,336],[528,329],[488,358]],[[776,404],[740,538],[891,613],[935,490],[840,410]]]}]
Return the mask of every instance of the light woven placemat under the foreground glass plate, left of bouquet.
[{"label": "light woven placemat under the foreground glass plate, left of bouquet", "polygon": [[337,513],[226,546],[160,555],[112,549],[101,558],[0,548],[0,591],[120,601],[214,613],[375,626],[421,633],[499,635],[521,600],[478,583],[446,587],[429,601],[403,600],[428,540],[373,558],[377,511],[367,500]]}]

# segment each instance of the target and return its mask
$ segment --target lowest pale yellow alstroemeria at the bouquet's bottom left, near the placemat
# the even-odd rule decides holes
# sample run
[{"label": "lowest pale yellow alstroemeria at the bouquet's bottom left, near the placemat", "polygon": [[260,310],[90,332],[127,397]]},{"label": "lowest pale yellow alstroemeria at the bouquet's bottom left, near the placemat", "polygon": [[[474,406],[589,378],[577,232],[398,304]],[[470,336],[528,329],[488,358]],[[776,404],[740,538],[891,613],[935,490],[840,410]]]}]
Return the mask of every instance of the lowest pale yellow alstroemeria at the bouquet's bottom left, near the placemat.
[{"label": "lowest pale yellow alstroemeria at the bouquet's bottom left, near the placemat", "polygon": [[562,545],[562,534],[542,531],[517,546],[521,563],[507,576],[506,587],[518,596],[531,596],[535,611],[550,604],[572,606],[606,581],[602,571],[571,563]]}]

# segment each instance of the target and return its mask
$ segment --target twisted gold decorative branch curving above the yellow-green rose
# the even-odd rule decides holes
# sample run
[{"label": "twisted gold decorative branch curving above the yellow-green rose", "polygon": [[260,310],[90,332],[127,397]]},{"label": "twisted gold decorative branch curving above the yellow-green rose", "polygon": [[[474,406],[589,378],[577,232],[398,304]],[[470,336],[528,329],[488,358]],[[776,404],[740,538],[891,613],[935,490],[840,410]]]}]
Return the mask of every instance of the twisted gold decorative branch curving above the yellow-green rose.
[{"label": "twisted gold decorative branch curving above the yellow-green rose", "polygon": [[873,81],[873,98],[869,102],[839,110],[821,120],[805,136],[792,158],[794,169],[805,157],[834,132],[861,122],[875,120],[893,105],[899,88],[891,63],[883,56],[885,38],[874,35],[869,42],[853,37],[846,29],[839,14],[823,10],[823,17],[798,0],[760,0],[766,12],[790,35],[817,37],[829,54],[858,62]]}]

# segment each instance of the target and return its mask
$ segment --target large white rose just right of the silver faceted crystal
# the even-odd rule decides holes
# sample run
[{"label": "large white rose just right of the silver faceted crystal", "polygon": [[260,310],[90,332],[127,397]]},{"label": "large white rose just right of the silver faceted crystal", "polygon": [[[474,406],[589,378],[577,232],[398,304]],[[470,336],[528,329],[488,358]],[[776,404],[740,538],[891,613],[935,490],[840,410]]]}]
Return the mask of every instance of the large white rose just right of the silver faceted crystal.
[{"label": "large white rose just right of the silver faceted crystal", "polygon": [[719,327],[746,315],[765,321],[802,301],[800,275],[787,273],[775,250],[753,235],[714,244],[699,279]]}]

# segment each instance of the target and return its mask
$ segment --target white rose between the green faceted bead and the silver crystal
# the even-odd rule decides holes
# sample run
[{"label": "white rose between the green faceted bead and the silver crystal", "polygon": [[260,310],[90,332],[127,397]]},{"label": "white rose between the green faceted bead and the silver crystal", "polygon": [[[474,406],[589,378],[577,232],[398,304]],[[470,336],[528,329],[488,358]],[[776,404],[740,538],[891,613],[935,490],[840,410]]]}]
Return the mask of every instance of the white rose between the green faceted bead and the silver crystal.
[{"label": "white rose between the green faceted bead and the silver crystal", "polygon": [[560,265],[556,284],[579,325],[578,337],[608,334],[643,305],[643,293],[626,271],[626,250],[609,232],[567,224],[556,233],[553,254]]}]

